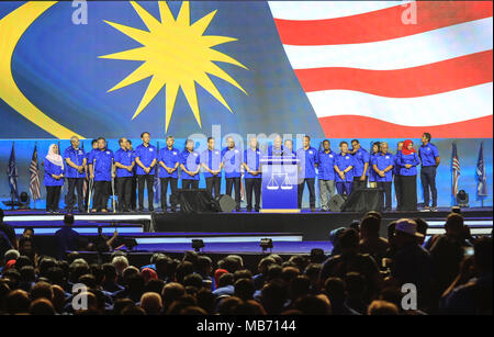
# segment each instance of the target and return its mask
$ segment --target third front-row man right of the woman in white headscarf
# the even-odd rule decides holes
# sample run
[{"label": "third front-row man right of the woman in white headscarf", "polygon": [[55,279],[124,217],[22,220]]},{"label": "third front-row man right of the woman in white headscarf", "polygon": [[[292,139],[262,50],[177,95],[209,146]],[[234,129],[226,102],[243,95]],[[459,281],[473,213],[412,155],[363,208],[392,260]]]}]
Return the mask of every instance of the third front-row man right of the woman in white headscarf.
[{"label": "third front-row man right of the woman in white headscarf", "polygon": [[131,211],[132,177],[134,176],[134,154],[128,149],[126,138],[119,139],[120,148],[115,151],[116,194],[119,212]]}]

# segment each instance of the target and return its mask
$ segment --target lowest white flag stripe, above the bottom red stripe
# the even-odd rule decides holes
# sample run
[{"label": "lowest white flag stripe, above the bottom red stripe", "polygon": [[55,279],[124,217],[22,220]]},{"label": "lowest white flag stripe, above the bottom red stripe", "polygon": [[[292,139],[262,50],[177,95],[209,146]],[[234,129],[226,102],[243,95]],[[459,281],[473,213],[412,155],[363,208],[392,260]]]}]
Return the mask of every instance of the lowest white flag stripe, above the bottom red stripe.
[{"label": "lowest white flag stripe, above the bottom red stripe", "polygon": [[[384,98],[359,91],[307,92],[317,117],[359,115],[407,126],[431,126],[492,114],[493,83],[418,98]],[[409,116],[409,117],[405,117]],[[406,124],[405,124],[406,123]]]}]

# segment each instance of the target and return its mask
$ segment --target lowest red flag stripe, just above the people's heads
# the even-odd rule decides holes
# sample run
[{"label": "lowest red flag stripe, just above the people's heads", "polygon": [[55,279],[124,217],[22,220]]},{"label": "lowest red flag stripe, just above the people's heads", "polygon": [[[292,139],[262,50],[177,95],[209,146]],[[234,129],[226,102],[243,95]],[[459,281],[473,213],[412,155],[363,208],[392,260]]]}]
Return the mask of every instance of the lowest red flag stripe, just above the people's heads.
[{"label": "lowest red flag stripe, just above the people's heads", "polygon": [[321,117],[319,123],[330,138],[420,138],[424,130],[436,138],[493,137],[493,115],[436,126],[405,126],[356,115]]}]

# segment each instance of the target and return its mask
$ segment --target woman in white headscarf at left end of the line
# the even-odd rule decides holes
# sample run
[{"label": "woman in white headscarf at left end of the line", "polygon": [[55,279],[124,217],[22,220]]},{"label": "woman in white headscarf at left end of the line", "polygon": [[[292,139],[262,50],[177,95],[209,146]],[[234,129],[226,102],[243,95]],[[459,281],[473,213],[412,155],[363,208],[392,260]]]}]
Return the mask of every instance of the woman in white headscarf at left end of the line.
[{"label": "woman in white headscarf at left end of the line", "polygon": [[64,159],[59,155],[58,146],[52,144],[44,160],[46,187],[46,212],[58,212],[61,186],[64,184]]}]

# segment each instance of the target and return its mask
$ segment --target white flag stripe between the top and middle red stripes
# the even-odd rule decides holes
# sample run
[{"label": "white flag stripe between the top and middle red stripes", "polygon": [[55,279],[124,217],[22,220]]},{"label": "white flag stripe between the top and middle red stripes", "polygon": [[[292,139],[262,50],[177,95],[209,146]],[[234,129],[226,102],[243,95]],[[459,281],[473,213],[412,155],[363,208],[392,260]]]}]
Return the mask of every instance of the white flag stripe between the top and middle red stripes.
[{"label": "white flag stripe between the top and middle red stripes", "polygon": [[392,70],[491,50],[492,40],[493,18],[486,18],[388,41],[283,47],[294,69],[349,67]]}]

